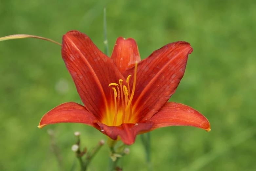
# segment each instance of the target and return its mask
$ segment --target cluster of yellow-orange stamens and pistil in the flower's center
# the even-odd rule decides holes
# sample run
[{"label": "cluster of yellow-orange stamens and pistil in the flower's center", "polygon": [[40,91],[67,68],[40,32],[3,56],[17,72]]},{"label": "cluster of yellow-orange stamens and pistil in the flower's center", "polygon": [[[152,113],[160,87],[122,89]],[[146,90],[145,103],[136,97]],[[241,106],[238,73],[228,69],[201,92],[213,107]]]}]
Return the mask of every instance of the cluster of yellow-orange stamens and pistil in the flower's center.
[{"label": "cluster of yellow-orange stamens and pistil in the flower's center", "polygon": [[[134,78],[133,78],[133,86],[132,90],[130,93],[130,86],[129,86],[129,79],[131,75],[129,75],[126,79],[127,87],[123,85],[123,80],[119,79],[119,84],[117,83],[110,83],[109,86],[116,86],[112,87],[114,91],[114,120],[113,123],[111,124],[112,126],[118,126],[121,125],[122,123],[131,123],[131,117],[132,117],[132,98],[135,92],[135,84],[136,84],[136,75],[137,75],[137,65],[138,62],[135,62],[135,67],[134,67]],[[117,99],[118,98],[118,99]],[[121,105],[120,105],[120,99],[121,99]],[[122,114],[122,117],[118,117],[118,115]],[[120,121],[118,121],[118,118],[120,118]]]}]

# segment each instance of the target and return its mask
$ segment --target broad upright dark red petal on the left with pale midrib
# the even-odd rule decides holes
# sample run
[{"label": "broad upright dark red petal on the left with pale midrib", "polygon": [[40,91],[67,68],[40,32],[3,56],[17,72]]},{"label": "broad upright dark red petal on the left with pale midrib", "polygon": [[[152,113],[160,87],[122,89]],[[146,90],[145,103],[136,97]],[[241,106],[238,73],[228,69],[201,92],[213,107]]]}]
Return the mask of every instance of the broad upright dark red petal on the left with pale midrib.
[{"label": "broad upright dark red petal on the left with pale midrib", "polygon": [[125,78],[113,60],[79,31],[69,31],[63,36],[61,54],[85,107],[101,120],[114,100],[108,84]]}]

